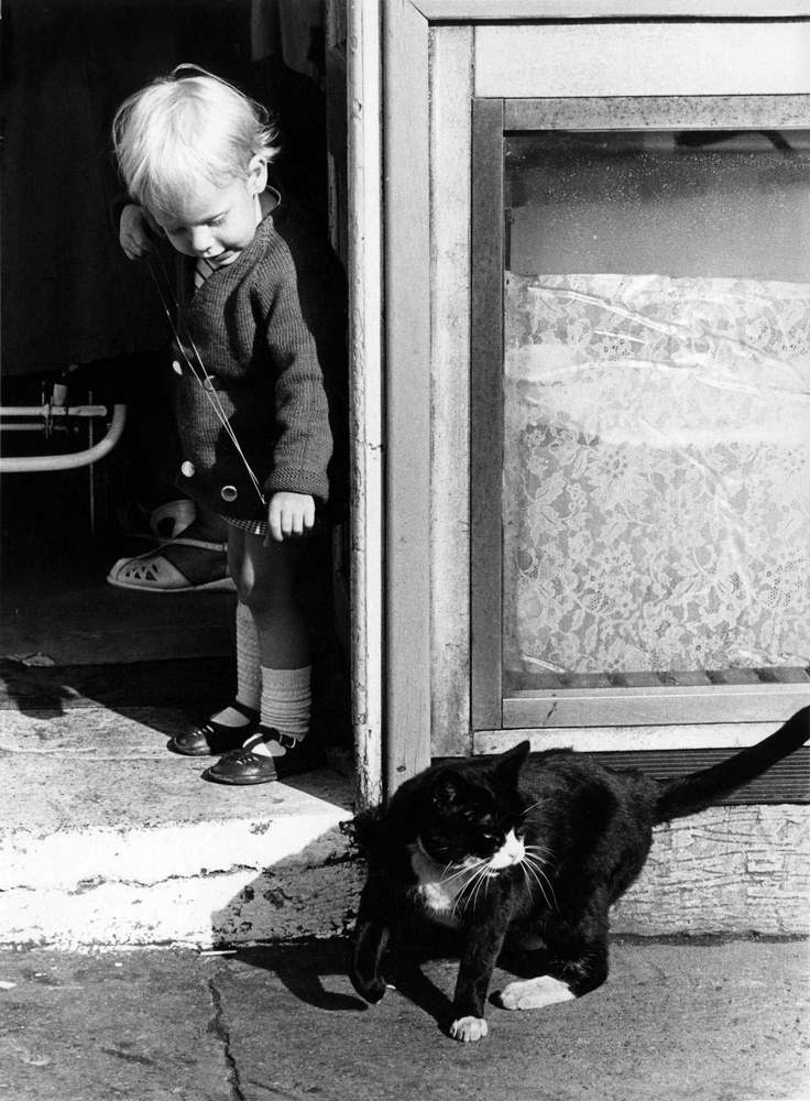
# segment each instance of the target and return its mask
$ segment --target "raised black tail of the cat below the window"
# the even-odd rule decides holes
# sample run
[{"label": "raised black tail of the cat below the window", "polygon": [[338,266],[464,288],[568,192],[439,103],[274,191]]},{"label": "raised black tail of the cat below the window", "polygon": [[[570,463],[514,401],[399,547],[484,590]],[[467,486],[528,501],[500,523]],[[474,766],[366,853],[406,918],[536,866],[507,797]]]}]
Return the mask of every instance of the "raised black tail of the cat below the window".
[{"label": "raised black tail of the cat below the window", "polygon": [[803,707],[776,733],[756,745],[712,765],[711,768],[663,782],[656,821],[666,822],[704,810],[712,803],[760,775],[788,753],[798,750],[809,739],[810,707]]}]

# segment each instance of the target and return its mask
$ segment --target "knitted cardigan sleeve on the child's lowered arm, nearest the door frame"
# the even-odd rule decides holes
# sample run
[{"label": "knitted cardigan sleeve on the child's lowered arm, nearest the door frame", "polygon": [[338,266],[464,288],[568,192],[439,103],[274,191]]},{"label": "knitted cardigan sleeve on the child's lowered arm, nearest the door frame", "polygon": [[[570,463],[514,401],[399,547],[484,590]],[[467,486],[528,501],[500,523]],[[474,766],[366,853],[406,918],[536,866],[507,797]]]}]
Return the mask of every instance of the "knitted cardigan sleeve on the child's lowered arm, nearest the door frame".
[{"label": "knitted cardigan sleeve on the child's lowered arm, nearest the door frame", "polygon": [[329,407],[314,336],[304,317],[295,266],[286,249],[270,306],[266,339],[275,364],[276,443],[267,493],[329,497],[332,453]]}]

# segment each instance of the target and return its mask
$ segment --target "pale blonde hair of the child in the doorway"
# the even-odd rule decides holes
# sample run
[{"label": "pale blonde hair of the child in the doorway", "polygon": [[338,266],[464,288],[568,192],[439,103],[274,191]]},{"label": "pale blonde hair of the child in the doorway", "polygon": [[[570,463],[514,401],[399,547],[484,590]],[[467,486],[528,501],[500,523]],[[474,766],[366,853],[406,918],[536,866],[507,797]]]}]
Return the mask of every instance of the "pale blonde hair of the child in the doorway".
[{"label": "pale blonde hair of the child in the doorway", "polygon": [[260,103],[196,65],[178,65],[130,96],[112,122],[130,195],[166,214],[194,194],[200,177],[227,186],[248,175],[254,156],[270,164],[276,138]]}]

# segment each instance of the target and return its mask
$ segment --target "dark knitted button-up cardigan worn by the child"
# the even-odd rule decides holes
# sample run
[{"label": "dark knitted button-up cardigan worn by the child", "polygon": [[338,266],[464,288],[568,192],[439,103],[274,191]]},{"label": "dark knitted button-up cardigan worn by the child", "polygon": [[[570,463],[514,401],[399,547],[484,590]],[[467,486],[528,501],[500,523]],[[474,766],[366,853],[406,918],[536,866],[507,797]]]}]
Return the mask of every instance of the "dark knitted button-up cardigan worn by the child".
[{"label": "dark knitted button-up cardigan worn by the child", "polygon": [[[193,264],[186,275],[190,281]],[[266,501],[282,490],[327,501],[332,434],[319,352],[340,359],[343,307],[336,259],[283,206],[260,222],[233,263],[187,296],[174,364],[184,451],[178,486],[199,504],[266,520],[245,460]],[[210,375],[206,386],[189,368],[199,360]]]}]

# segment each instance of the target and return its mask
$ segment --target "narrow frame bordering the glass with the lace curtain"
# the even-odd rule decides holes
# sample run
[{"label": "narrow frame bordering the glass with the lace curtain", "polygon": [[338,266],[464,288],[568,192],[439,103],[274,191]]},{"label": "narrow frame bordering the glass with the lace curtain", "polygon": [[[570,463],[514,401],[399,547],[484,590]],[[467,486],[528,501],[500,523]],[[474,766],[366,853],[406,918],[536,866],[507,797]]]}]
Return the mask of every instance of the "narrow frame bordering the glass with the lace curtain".
[{"label": "narrow frame bordering the glass with the lace curtain", "polygon": [[808,95],[472,99],[470,565],[474,740],[500,730],[780,722],[810,705],[807,673],[804,682],[549,688],[507,695],[502,662],[506,134],[555,129],[791,130],[807,129],[808,119]]}]

